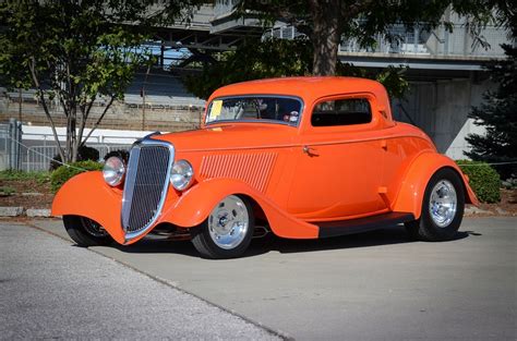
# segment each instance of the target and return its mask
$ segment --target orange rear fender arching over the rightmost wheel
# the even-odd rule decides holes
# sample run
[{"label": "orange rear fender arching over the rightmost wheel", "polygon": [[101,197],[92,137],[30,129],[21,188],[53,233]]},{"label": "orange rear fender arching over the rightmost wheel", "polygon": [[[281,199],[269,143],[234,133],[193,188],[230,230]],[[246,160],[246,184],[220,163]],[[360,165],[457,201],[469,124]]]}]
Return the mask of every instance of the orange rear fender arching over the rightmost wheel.
[{"label": "orange rear fender arching over the rightmost wheel", "polygon": [[469,185],[468,178],[448,157],[436,153],[423,153],[409,166],[392,209],[394,211],[412,212],[418,219],[422,212],[422,202],[425,187],[431,176],[441,168],[453,168],[465,185],[465,200],[479,205],[478,198]]}]

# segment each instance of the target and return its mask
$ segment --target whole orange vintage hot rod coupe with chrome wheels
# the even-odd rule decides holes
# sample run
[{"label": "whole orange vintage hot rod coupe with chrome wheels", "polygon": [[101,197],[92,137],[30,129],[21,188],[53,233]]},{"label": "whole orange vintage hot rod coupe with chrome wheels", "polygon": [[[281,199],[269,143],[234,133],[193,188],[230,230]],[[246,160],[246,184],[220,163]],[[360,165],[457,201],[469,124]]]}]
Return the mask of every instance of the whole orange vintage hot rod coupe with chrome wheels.
[{"label": "whole orange vintage hot rod coupe with chrome wheels", "polygon": [[478,203],[468,179],[393,120],[380,83],[293,77],[217,89],[200,130],[148,135],[128,160],[72,178],[52,214],[79,245],[167,231],[228,258],[264,231],[317,239],[405,223],[414,238],[448,240],[465,203]]}]

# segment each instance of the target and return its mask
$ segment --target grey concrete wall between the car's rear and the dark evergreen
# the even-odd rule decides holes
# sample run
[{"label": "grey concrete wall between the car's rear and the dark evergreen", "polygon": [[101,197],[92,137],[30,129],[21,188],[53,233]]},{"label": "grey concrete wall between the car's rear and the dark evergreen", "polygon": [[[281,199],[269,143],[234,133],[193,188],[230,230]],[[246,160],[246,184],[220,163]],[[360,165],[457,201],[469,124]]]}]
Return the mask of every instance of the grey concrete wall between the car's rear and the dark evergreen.
[{"label": "grey concrete wall between the car's rear and the dark evergreen", "polygon": [[[406,100],[394,101],[394,117],[410,122],[409,115],[434,141],[440,153],[465,159],[462,151],[469,148],[465,136],[483,132],[468,119],[468,113],[482,102],[483,93],[492,87],[488,81],[474,83],[470,78],[412,83]],[[407,115],[398,105],[405,108]]]}]

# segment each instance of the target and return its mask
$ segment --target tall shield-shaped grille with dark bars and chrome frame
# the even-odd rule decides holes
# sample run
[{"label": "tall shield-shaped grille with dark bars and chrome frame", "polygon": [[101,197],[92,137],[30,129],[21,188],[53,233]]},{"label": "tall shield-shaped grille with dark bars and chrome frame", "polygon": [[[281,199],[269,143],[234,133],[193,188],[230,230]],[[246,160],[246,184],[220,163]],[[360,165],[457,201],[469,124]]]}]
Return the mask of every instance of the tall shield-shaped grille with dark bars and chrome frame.
[{"label": "tall shield-shaped grille with dark bars and chrome frame", "polygon": [[122,200],[127,240],[137,236],[158,218],[169,184],[172,146],[143,141],[131,149]]}]

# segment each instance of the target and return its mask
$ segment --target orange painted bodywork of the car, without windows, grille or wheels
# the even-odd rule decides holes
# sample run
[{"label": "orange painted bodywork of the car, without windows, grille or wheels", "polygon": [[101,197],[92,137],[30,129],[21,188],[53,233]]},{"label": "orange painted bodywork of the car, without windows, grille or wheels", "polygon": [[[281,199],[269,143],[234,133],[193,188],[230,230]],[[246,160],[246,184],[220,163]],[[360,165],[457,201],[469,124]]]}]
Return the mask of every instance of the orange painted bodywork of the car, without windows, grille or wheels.
[{"label": "orange painted bodywork of the car, without windows, grille or wheels", "polygon": [[[193,184],[184,192],[169,185],[154,226],[196,227],[223,198],[241,195],[260,206],[276,235],[312,239],[318,236],[321,221],[389,211],[418,218],[434,172],[450,167],[462,175],[421,130],[393,120],[386,90],[377,82],[347,77],[244,82],[217,89],[207,107],[217,98],[251,95],[299,98],[303,102],[299,122],[216,121],[200,130],[151,137],[171,144],[175,160],[185,159],[194,169]],[[349,99],[368,103],[370,122],[313,125],[316,106]],[[462,178],[467,202],[477,204]],[[100,172],[84,173],[59,191],[52,214],[88,217],[117,242],[133,243],[144,234],[125,241],[121,199],[122,192],[105,184]]]}]

